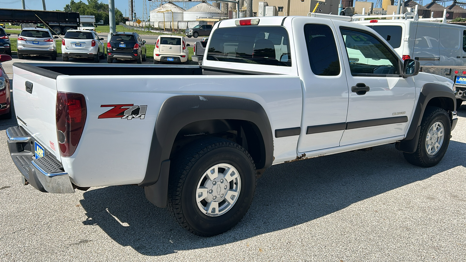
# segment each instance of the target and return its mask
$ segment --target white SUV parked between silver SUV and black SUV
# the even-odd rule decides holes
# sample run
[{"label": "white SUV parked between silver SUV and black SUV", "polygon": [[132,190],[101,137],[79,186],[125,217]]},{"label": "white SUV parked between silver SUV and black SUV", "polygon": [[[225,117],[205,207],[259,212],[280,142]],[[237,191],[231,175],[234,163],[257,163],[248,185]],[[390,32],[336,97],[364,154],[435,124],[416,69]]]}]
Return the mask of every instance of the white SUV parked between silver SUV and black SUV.
[{"label": "white SUV parked between silver SUV and black SUV", "polygon": [[105,48],[96,32],[90,30],[68,30],[62,40],[62,58],[91,58],[98,63],[104,57]]}]

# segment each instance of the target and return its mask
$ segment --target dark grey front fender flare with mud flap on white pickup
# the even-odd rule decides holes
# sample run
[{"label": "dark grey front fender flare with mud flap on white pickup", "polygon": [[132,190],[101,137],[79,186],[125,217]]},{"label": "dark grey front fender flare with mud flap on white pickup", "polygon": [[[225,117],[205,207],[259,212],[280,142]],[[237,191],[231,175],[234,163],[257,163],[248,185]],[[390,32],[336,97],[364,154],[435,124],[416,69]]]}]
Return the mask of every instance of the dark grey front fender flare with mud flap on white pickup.
[{"label": "dark grey front fender flare with mud flap on white pickup", "polygon": [[409,126],[406,137],[397,144],[397,149],[407,153],[413,153],[418,147],[418,141],[421,131],[421,121],[424,116],[425,108],[430,100],[434,97],[448,97],[452,99],[453,108],[448,110],[454,110],[456,108],[456,98],[453,90],[447,86],[439,83],[426,83],[422,86],[421,93],[419,94],[418,103],[414,109],[414,114]]}]

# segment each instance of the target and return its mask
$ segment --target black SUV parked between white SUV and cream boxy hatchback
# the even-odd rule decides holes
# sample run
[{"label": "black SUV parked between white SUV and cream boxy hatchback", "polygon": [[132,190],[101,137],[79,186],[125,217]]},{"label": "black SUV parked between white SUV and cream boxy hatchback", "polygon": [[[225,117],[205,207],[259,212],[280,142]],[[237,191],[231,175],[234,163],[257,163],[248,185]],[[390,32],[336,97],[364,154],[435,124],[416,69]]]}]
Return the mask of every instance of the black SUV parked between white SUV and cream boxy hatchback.
[{"label": "black SUV parked between white SUV and cream boxy hatchback", "polygon": [[145,41],[137,33],[117,32],[107,43],[107,62],[114,59],[136,60],[138,64],[146,60]]}]

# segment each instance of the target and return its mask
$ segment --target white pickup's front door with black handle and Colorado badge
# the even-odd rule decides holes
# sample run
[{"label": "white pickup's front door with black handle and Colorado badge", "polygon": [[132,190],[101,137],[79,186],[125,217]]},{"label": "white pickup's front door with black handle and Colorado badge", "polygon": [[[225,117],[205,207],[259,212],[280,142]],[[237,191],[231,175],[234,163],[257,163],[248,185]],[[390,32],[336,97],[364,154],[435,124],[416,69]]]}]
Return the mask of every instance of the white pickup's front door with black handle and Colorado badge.
[{"label": "white pickup's front door with black handle and Colorado badge", "polygon": [[371,30],[339,28],[348,79],[346,130],[340,145],[404,136],[414,108],[412,77],[398,55]]}]

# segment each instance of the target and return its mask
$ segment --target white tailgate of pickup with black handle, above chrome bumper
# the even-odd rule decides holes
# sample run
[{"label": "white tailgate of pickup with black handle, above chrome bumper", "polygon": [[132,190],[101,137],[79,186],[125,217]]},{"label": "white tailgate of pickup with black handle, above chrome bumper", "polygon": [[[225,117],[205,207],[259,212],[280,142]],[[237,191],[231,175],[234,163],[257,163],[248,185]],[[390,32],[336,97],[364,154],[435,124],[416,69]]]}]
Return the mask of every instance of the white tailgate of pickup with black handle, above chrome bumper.
[{"label": "white tailgate of pickup with black handle, above chrome bumper", "polygon": [[55,120],[56,76],[60,74],[25,63],[14,63],[13,73],[18,124],[60,160]]}]

